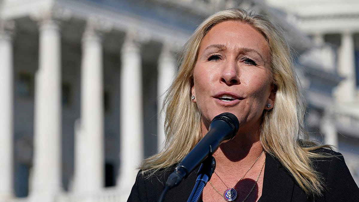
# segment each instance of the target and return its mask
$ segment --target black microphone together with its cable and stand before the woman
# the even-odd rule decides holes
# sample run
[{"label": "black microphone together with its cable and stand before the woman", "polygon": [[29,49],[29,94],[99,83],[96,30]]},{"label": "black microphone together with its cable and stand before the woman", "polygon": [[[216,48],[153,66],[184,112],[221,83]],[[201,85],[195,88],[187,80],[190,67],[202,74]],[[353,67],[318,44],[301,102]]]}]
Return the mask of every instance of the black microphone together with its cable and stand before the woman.
[{"label": "black microphone together with its cable and stand before the woman", "polygon": [[[204,186],[211,178],[216,162],[212,154],[218,149],[219,145],[225,140],[231,140],[239,129],[238,118],[229,112],[217,115],[209,125],[208,133],[195,145],[185,158],[176,166],[174,172],[168,176],[165,187],[159,197],[158,202],[163,202],[169,189],[176,187],[185,179],[201,162],[201,168],[196,181],[195,190],[192,191],[193,197],[200,197]],[[212,157],[212,159],[211,159]],[[206,161],[206,159],[208,159]],[[204,162],[206,161],[206,163]],[[198,185],[197,185],[198,184]],[[188,199],[191,201],[191,199]],[[195,201],[197,202],[197,200]]]}]

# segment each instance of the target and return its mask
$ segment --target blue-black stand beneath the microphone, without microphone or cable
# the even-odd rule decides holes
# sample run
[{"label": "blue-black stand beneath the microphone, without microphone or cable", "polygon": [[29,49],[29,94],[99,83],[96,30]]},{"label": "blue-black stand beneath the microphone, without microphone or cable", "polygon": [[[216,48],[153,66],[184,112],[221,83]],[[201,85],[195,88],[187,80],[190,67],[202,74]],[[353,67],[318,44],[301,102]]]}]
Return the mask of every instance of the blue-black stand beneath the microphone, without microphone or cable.
[{"label": "blue-black stand beneath the microphone, without microphone or cable", "polygon": [[211,176],[216,168],[216,160],[212,155],[208,156],[201,164],[198,170],[196,184],[192,189],[191,195],[187,202],[197,202],[201,197],[203,188],[211,179]]}]

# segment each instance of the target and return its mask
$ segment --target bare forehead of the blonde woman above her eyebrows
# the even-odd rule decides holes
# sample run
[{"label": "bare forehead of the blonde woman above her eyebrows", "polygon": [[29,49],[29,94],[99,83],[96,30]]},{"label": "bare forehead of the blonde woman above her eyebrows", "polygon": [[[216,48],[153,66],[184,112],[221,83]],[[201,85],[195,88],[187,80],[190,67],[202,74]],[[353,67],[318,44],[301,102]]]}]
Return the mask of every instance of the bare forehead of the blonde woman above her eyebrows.
[{"label": "bare forehead of the blonde woman above her eyebrows", "polygon": [[235,20],[224,21],[212,27],[203,38],[199,51],[212,44],[221,44],[233,49],[254,49],[265,58],[270,54],[268,43],[261,33],[252,26]]}]

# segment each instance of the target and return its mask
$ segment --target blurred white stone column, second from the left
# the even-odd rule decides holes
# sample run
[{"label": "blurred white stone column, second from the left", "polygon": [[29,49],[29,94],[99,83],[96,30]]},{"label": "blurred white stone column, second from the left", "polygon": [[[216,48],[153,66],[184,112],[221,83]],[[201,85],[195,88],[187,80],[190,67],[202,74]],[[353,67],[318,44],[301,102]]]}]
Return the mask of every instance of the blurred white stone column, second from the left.
[{"label": "blurred white stone column, second from the left", "polygon": [[53,201],[62,189],[61,36],[59,21],[51,15],[43,16],[38,22],[39,67],[35,77],[31,196],[34,201]]}]

